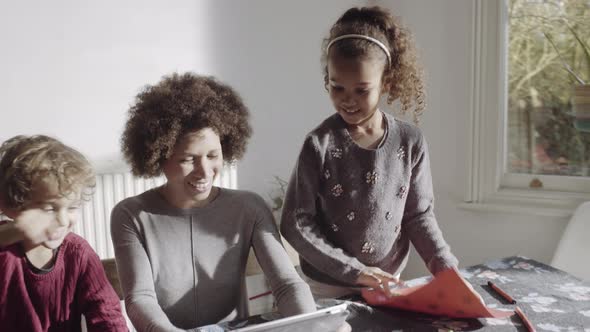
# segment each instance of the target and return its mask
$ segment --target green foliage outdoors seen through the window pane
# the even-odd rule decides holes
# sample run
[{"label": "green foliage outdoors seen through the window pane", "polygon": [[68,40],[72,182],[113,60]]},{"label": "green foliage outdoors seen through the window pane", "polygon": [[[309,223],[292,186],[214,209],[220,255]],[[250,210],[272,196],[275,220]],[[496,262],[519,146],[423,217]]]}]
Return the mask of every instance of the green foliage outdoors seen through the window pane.
[{"label": "green foliage outdoors seen through the window pane", "polygon": [[590,176],[570,103],[572,73],[590,81],[590,0],[511,0],[508,17],[508,169]]}]

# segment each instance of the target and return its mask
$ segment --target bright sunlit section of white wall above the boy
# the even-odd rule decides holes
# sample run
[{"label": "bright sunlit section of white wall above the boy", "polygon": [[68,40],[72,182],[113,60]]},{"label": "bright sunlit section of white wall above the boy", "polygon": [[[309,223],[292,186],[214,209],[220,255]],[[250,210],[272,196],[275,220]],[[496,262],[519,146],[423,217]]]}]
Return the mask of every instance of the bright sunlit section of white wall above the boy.
[{"label": "bright sunlit section of white wall above the boy", "polygon": [[0,139],[45,133],[100,165],[117,162],[140,88],[210,67],[205,9],[192,0],[2,1]]}]

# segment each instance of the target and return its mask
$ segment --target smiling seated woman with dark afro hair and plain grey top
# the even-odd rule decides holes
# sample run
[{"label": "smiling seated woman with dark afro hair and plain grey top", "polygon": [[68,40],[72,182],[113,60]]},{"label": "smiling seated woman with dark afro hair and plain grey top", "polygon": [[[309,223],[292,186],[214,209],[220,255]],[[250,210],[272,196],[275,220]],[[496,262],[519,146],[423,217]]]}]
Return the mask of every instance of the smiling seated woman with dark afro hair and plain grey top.
[{"label": "smiling seated woman with dark afro hair and plain grey top", "polygon": [[164,77],[131,106],[123,154],[136,176],[166,177],[111,215],[125,306],[138,331],[194,331],[235,310],[247,316],[239,305],[250,248],[283,316],[315,311],[263,199],[213,185],[224,161],[242,157],[250,133],[241,98],[210,77]]}]

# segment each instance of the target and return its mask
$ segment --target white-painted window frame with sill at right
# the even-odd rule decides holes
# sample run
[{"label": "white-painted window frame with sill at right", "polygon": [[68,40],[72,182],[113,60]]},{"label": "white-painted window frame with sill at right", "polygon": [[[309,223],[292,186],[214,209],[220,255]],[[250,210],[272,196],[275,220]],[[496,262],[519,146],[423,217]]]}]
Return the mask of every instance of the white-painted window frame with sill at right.
[{"label": "white-painted window frame with sill at right", "polygon": [[[569,217],[590,200],[590,177],[508,173],[508,0],[475,0],[468,188],[463,208]],[[530,188],[533,179],[542,188]]]}]

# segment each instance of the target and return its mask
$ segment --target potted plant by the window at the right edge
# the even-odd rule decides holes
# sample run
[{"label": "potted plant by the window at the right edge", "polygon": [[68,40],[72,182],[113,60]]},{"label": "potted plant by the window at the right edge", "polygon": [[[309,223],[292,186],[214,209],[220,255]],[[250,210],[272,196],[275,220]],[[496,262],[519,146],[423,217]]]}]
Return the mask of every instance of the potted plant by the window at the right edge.
[{"label": "potted plant by the window at the right edge", "polygon": [[[553,46],[559,56],[559,60],[564,69],[574,78],[576,82],[572,91],[572,110],[574,113],[574,126],[580,131],[590,132],[590,46],[582,39],[578,32],[566,22],[566,27],[572,33],[576,40],[577,47],[580,47],[582,52],[582,59],[586,67],[585,73],[576,72],[572,69],[560,53],[557,45],[548,33],[544,33],[545,37]],[[580,67],[583,68],[583,65]],[[582,71],[582,69],[579,69]]]}]

